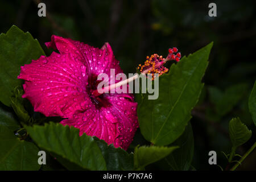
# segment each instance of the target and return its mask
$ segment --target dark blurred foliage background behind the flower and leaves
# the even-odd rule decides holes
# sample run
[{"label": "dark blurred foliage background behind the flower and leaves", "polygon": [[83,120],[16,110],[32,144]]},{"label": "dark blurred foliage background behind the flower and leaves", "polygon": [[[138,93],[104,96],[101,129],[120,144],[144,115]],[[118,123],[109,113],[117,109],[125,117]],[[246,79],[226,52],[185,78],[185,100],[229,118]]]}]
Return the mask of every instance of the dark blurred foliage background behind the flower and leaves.
[{"label": "dark blurred foliage background behind the flower and leaves", "polygon": [[[47,7],[46,18],[39,18],[38,2],[1,0],[0,32],[15,24],[38,39],[47,55],[44,42],[49,42],[52,34],[94,47],[109,42],[125,73],[134,73],[137,65],[152,53],[166,56],[168,48],[175,46],[181,55],[188,55],[213,41],[203,79],[205,88],[192,111],[192,166],[197,170],[218,169],[208,164],[208,152],[214,150],[217,164],[225,168],[227,159],[221,151],[230,152],[228,122],[233,117],[240,117],[253,131],[249,142],[238,148],[238,154],[243,155],[254,143],[256,130],[247,106],[256,71],[254,1],[42,1]],[[208,16],[210,2],[217,5],[217,17]],[[219,114],[215,98],[230,87],[236,98],[222,99],[222,106],[234,100],[236,103],[225,114]],[[139,140],[143,143],[138,132],[131,148]],[[255,170],[256,151],[238,169]]]}]

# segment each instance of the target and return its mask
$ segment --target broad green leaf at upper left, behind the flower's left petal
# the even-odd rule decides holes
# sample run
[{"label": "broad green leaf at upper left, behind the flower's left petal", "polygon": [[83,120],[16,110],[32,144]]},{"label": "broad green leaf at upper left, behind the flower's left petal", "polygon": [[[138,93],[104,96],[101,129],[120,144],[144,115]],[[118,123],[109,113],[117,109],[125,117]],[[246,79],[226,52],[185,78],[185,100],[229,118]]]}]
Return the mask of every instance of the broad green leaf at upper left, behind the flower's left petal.
[{"label": "broad green leaf at upper left, behind the flower's left petal", "polygon": [[30,63],[32,59],[38,59],[41,55],[44,55],[44,51],[38,40],[16,26],[0,35],[0,101],[3,104],[11,105],[11,91],[22,83],[17,78],[20,66]]}]

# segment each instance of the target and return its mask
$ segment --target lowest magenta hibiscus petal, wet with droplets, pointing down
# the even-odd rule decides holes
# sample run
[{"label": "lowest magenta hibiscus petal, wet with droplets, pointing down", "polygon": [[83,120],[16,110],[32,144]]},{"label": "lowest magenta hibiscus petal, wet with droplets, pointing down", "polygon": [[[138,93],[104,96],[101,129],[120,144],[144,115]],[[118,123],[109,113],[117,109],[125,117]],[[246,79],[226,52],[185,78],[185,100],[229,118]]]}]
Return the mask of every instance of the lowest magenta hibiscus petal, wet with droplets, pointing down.
[{"label": "lowest magenta hibiscus petal, wet with droplets, pointing down", "polygon": [[107,99],[111,106],[101,107],[100,110],[92,107],[61,123],[80,129],[80,135],[86,133],[127,150],[138,127],[137,103],[127,99],[125,94]]}]

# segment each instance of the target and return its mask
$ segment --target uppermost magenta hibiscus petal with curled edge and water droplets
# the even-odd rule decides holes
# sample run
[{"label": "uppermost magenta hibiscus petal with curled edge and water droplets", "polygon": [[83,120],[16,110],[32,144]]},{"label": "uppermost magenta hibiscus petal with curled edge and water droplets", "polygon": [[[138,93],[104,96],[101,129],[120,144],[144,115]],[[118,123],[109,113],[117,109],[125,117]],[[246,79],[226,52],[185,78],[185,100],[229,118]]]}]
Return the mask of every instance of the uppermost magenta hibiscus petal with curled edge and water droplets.
[{"label": "uppermost magenta hibiscus petal with curled edge and water droplets", "polygon": [[[105,43],[99,49],[79,41],[52,35],[51,42],[46,43],[46,46],[58,49],[60,53],[72,51],[77,57],[81,57],[88,68],[87,74],[90,78],[95,79],[100,73],[106,73],[110,76],[110,69],[114,69],[115,75],[122,73],[122,69],[119,67],[119,61],[115,59],[109,43]],[[118,82],[118,80],[115,82]]]}]

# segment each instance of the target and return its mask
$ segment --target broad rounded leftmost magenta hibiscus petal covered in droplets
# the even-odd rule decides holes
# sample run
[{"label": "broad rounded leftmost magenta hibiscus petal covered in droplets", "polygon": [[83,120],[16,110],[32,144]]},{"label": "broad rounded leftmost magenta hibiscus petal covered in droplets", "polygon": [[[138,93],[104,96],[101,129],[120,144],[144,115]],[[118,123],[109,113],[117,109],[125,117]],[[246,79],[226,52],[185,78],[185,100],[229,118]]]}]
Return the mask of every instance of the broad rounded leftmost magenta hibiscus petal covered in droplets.
[{"label": "broad rounded leftmost magenta hibiscus petal covered in droplets", "polygon": [[18,78],[25,80],[23,98],[30,100],[35,111],[47,117],[69,117],[91,104],[85,73],[85,65],[76,56],[52,52],[21,67]]}]

